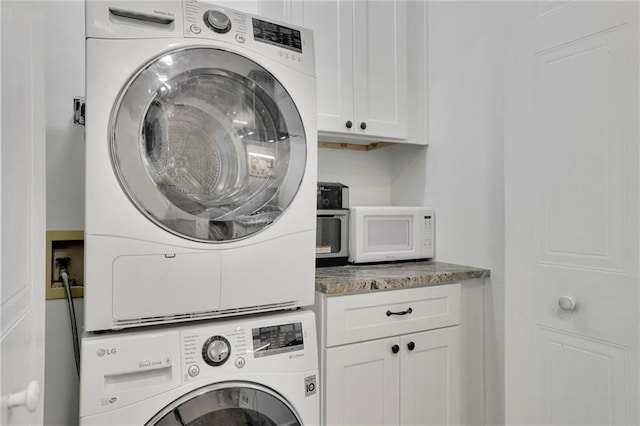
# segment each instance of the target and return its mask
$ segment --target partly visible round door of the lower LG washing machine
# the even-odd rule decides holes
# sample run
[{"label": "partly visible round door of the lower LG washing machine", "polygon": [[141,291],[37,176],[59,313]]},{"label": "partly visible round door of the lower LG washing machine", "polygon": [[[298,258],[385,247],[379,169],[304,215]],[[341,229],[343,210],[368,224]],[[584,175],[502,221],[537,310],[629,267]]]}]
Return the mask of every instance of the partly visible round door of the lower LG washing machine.
[{"label": "partly visible round door of the lower LG washing machine", "polygon": [[301,426],[279,394],[244,382],[197,389],[174,401],[145,426]]}]

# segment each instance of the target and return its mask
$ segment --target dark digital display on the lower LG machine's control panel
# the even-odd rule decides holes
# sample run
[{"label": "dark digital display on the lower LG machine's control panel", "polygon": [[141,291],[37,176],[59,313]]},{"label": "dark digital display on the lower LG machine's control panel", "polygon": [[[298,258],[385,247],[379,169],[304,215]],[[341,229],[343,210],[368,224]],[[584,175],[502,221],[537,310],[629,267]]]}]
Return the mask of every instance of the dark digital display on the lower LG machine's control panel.
[{"label": "dark digital display on the lower LG machine's control panel", "polygon": [[304,349],[301,322],[254,328],[251,333],[255,358]]}]

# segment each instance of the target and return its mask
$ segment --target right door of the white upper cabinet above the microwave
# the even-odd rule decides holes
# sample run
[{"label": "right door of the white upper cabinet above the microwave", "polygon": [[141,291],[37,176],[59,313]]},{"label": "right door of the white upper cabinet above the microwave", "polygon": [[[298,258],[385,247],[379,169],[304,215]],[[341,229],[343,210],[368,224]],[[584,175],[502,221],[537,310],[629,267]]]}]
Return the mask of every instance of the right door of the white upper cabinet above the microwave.
[{"label": "right door of the white upper cabinet above the microwave", "polygon": [[407,138],[406,7],[354,3],[354,134]]}]

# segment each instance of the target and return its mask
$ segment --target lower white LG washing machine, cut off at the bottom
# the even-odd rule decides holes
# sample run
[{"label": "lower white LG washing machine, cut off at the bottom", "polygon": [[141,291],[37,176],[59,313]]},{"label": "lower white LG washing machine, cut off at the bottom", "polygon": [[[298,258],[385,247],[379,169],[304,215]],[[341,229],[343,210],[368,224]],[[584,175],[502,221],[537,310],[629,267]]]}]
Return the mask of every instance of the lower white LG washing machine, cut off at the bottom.
[{"label": "lower white LG washing machine, cut off at the bottom", "polygon": [[90,334],[80,424],[311,426],[317,385],[310,311]]}]

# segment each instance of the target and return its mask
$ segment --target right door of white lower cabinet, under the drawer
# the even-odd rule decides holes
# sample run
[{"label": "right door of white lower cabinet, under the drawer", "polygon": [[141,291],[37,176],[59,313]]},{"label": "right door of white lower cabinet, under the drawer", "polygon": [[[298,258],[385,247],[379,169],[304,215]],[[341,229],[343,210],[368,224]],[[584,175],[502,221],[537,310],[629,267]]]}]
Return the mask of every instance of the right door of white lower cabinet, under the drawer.
[{"label": "right door of white lower cabinet, under the drawer", "polygon": [[460,326],[400,340],[400,424],[460,424]]}]

